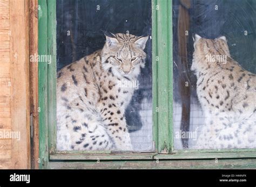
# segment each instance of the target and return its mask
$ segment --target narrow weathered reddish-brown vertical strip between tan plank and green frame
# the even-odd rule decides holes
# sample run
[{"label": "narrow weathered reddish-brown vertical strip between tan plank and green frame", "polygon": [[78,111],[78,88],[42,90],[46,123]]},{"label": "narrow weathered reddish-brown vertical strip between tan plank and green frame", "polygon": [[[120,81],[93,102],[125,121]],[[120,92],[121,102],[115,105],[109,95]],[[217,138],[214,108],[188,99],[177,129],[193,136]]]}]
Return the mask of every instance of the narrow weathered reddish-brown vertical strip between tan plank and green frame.
[{"label": "narrow weathered reddish-brown vertical strip between tan plank and green frame", "polygon": [[[38,55],[38,2],[29,0],[29,56]],[[30,60],[30,115],[33,116],[33,137],[31,138],[31,169],[38,169],[39,123],[38,123],[38,61]]]}]

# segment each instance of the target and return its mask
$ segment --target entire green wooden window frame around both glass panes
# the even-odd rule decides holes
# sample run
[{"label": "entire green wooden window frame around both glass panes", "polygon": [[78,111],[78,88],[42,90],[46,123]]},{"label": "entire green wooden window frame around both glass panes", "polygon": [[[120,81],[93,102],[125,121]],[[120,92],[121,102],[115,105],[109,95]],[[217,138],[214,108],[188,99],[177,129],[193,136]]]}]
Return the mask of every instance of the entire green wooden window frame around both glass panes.
[{"label": "entire green wooden window frame around both glass panes", "polygon": [[[172,0],[152,0],[153,153],[56,150],[56,0],[38,0],[39,155],[48,168],[256,168],[256,149],[175,150]],[[219,159],[216,162],[216,159]],[[69,161],[69,162],[67,162]],[[95,162],[95,161],[100,161]],[[97,163],[97,164],[96,164]]]}]

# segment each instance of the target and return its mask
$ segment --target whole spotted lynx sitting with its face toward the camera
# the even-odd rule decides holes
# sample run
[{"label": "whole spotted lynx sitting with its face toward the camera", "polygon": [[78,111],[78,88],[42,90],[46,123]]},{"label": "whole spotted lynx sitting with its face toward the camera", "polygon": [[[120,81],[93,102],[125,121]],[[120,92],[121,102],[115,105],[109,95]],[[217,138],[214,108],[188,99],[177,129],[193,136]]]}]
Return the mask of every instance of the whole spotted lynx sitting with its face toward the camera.
[{"label": "whole spotted lynx sitting with its face toward the camera", "polygon": [[145,66],[148,37],[106,36],[102,50],[57,74],[57,149],[132,150],[124,117],[136,81]]}]

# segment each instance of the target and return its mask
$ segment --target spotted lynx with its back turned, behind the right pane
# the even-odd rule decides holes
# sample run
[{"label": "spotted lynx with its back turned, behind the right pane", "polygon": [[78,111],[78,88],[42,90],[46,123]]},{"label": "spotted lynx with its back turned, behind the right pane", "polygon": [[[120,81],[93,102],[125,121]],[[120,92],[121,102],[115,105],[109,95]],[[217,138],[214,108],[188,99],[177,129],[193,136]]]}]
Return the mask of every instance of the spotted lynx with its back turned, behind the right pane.
[{"label": "spotted lynx with its back turned, behind the right pane", "polygon": [[[196,34],[193,64],[205,124],[193,149],[256,148],[256,77],[234,61],[225,37]],[[227,56],[226,63],[207,56]]]}]

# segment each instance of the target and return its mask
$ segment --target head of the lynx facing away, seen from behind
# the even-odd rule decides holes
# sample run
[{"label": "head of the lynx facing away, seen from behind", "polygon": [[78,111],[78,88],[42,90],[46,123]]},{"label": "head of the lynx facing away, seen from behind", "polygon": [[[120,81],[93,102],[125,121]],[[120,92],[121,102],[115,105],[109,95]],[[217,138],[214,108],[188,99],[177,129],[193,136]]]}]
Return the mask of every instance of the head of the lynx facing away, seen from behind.
[{"label": "head of the lynx facing away, seen from behind", "polygon": [[198,72],[204,71],[209,67],[218,66],[220,63],[225,63],[222,60],[230,57],[228,50],[227,39],[221,36],[215,39],[205,39],[198,34],[194,36],[194,53],[191,70]]}]

